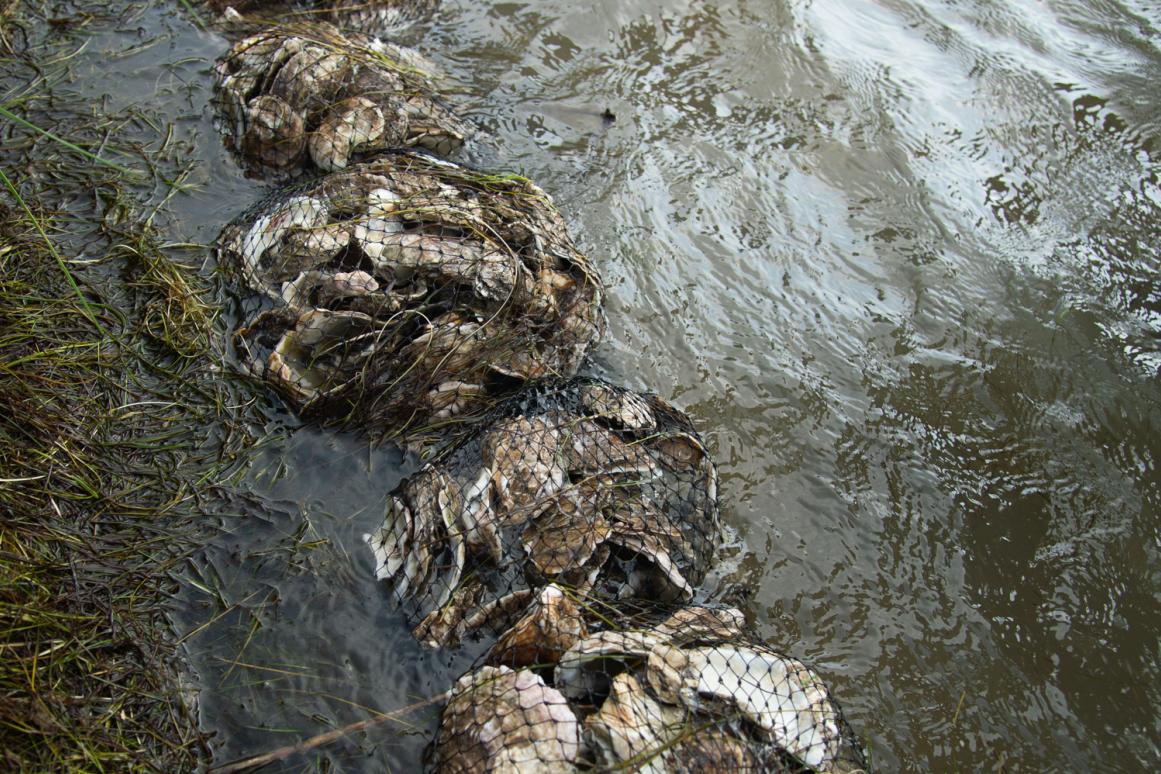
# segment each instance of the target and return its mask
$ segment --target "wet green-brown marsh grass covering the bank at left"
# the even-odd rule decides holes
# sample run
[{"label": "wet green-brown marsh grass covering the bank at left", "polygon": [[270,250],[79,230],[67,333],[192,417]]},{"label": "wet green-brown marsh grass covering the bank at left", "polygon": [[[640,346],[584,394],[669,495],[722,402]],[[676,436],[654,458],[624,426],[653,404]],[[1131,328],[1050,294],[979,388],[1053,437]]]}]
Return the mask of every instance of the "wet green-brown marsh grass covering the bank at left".
[{"label": "wet green-brown marsh grass covering the bank at left", "polygon": [[95,16],[44,13],[0,3],[0,769],[188,771],[167,601],[251,436],[196,246],[154,225],[170,130],[57,107]]}]

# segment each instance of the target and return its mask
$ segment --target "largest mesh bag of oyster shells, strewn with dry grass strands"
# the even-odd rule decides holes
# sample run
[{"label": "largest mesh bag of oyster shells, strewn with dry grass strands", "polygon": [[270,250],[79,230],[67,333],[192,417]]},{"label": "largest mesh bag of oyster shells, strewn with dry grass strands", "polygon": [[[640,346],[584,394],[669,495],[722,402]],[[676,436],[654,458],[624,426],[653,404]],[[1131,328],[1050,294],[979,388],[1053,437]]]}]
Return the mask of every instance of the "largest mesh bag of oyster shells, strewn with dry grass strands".
[{"label": "largest mesh bag of oyster shells, strewn with dry grass strands", "polygon": [[524,178],[392,153],[228,226],[241,359],[308,418],[421,446],[524,382],[571,375],[600,282]]}]

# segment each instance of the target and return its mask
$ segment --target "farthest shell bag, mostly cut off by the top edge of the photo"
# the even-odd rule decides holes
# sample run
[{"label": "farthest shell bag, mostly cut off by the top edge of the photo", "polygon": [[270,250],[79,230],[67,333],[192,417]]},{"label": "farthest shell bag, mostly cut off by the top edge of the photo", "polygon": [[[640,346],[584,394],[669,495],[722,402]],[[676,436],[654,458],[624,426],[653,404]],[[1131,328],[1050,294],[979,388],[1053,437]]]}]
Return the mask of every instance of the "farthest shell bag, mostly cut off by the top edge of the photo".
[{"label": "farthest shell bag, mostly cut off by the top edge of the photo", "polygon": [[210,0],[228,22],[325,21],[368,35],[391,35],[427,20],[439,0]]}]

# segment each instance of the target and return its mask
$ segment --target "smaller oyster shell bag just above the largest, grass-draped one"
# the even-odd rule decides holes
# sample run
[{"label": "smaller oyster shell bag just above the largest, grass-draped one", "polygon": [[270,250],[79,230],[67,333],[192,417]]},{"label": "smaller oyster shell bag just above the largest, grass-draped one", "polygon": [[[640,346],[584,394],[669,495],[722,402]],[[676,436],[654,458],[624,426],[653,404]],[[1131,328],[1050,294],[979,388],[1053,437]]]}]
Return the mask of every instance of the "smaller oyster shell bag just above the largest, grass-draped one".
[{"label": "smaller oyster shell bag just above the largest, grass-draped one", "polygon": [[327,23],[274,27],[236,43],[214,68],[228,147],[251,171],[342,169],[417,146],[448,154],[466,124],[435,99],[418,52]]}]

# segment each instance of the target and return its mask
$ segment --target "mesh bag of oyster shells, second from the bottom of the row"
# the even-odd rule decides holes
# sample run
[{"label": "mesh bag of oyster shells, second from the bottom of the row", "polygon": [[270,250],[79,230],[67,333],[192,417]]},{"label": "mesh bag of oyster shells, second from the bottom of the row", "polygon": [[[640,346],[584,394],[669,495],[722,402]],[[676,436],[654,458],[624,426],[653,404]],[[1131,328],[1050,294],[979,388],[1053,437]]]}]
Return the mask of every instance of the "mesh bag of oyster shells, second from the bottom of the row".
[{"label": "mesh bag of oyster shells, second from the bottom of the row", "polygon": [[603,621],[692,599],[719,544],[690,420],[592,378],[535,383],[405,479],[368,536],[413,634],[548,663]]}]

